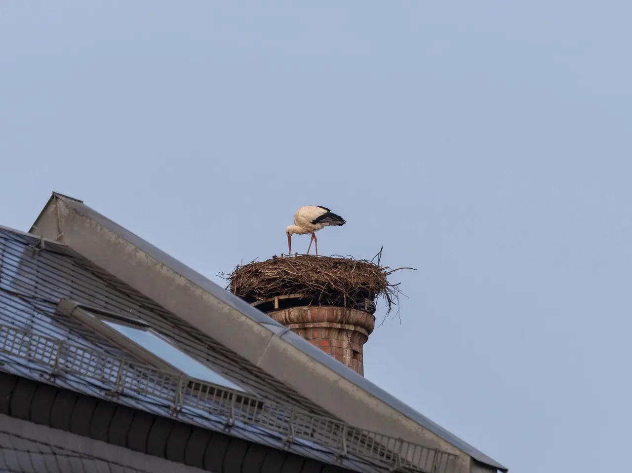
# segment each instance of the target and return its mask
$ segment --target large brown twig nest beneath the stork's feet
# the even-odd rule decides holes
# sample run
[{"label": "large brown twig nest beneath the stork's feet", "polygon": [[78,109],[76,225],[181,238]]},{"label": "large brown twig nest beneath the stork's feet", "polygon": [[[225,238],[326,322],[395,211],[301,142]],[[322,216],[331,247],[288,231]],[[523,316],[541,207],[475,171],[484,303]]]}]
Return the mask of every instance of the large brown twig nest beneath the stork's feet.
[{"label": "large brown twig nest beneath the stork's feet", "polygon": [[[399,302],[399,283],[388,277],[401,269],[382,266],[382,249],[374,258],[355,260],[351,256],[272,256],[266,261],[238,265],[233,273],[219,273],[228,281],[226,289],[246,301],[302,294],[319,304],[355,307],[366,299],[375,302],[384,297],[386,317]],[[377,260],[377,261],[375,261]],[[399,310],[398,310],[399,314]]]}]

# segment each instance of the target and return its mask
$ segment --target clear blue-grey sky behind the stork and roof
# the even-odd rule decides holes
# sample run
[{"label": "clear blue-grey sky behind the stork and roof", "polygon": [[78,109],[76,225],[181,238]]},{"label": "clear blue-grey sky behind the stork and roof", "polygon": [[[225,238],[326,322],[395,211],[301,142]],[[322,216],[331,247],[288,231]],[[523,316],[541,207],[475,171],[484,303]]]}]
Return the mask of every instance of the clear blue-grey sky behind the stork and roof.
[{"label": "clear blue-grey sky behind the stork and roof", "polygon": [[28,229],[59,191],[221,282],[325,205],[348,224],[321,254],[383,244],[418,268],[396,273],[409,298],[365,345],[368,379],[515,473],[618,471],[631,18],[623,0],[5,0],[0,224]]}]

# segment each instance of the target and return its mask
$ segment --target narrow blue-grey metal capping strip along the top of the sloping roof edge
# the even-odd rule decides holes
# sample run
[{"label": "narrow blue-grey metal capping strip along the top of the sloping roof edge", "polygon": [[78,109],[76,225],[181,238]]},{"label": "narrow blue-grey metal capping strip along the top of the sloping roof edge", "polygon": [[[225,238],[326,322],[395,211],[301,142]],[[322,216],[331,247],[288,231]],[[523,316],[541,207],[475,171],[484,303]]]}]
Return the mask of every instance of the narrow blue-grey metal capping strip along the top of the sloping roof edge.
[{"label": "narrow blue-grey metal capping strip along the top of the sloping roof edge", "polygon": [[391,407],[401,412],[401,414],[404,414],[404,416],[409,417],[410,419],[417,422],[418,424],[428,429],[432,433],[436,434],[437,436],[443,438],[447,442],[456,446],[457,448],[459,448],[459,450],[462,450],[463,452],[468,453],[468,455],[470,455],[472,458],[475,458],[475,460],[478,460],[479,462],[482,462],[487,465],[491,465],[492,467],[495,467],[497,469],[507,470],[506,467],[499,464],[499,462],[496,462],[493,458],[490,458],[489,456],[485,455],[485,453],[480,452],[480,450],[478,450],[477,448],[461,440],[453,433],[447,431],[446,429],[442,428],[435,422],[428,419],[428,417],[423,416],[423,414],[420,414],[415,409],[412,409],[410,406],[404,404],[403,402],[398,400],[398,398],[387,393],[385,390],[383,390],[379,386],[374,385],[374,383],[371,383],[366,378],[363,378],[363,376],[360,376],[360,374],[355,373],[355,371],[351,369],[348,369],[346,366],[344,366],[344,364],[337,361],[333,357],[325,354],[324,352],[322,352],[322,350],[319,350],[318,348],[314,347],[312,344],[310,344],[303,338],[299,337],[295,333],[288,332],[287,330],[285,330],[283,325],[272,320],[272,318],[267,316],[262,311],[259,311],[258,309],[253,308],[252,306],[250,306],[250,304],[241,300],[239,297],[234,296],[227,290],[223,289],[220,285],[212,282],[211,280],[204,277],[200,273],[196,272],[195,270],[191,269],[190,267],[176,260],[175,258],[173,258],[173,256],[170,256],[169,254],[165,253],[161,249],[156,248],[154,245],[145,241],[141,237],[133,234],[132,232],[125,229],[124,227],[121,227],[121,225],[108,219],[104,215],[101,215],[99,212],[96,212],[94,209],[88,207],[87,205],[79,201],[68,200],[68,201],[65,201],[65,203],[69,207],[75,208],[75,210],[77,210],[78,212],[81,212],[84,215],[88,215],[90,219],[94,220],[95,222],[98,222],[100,225],[104,226],[106,229],[109,229],[110,231],[115,232],[126,241],[137,246],[142,251],[152,256],[155,260],[160,261],[164,265],[173,269],[175,272],[179,273],[186,279],[197,284],[199,287],[202,287],[202,289],[207,290],[213,296],[226,302],[226,304],[229,304],[230,306],[237,309],[241,313],[245,314],[252,320],[257,321],[257,323],[265,325],[269,330],[272,330],[273,332],[277,334],[283,333],[283,335],[281,335],[281,338],[283,338],[290,344],[294,345],[296,348],[300,349],[301,351],[305,352],[305,354],[307,354],[308,356],[321,362],[328,368],[332,369],[332,371],[336,372],[340,376],[343,376],[347,380],[351,381],[351,383],[355,384],[356,386],[359,386],[363,390],[374,395],[379,400],[382,400],[382,402],[385,402],[386,404],[391,405]]}]

